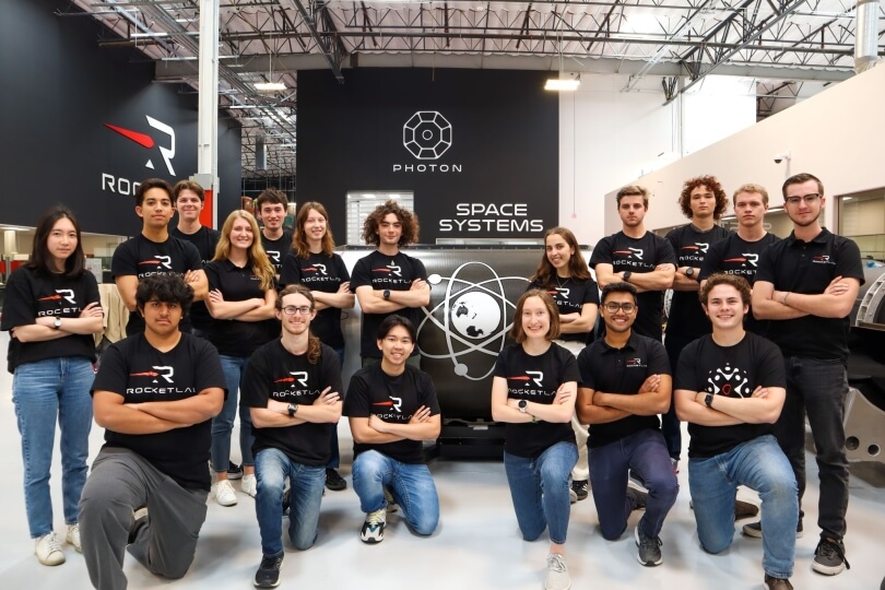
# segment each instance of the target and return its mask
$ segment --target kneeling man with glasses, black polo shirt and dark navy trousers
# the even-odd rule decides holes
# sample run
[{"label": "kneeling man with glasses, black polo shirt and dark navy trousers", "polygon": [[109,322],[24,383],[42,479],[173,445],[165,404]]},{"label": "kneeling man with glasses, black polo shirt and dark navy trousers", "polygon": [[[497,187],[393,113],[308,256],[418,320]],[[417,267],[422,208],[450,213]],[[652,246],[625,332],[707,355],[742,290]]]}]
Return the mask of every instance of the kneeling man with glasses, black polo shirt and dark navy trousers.
[{"label": "kneeling man with glasses, black polo shirt and dark navy trousers", "polygon": [[[628,283],[603,287],[605,335],[578,355],[576,411],[590,425],[590,487],[602,536],[617,540],[630,512],[645,508],[634,531],[637,557],[657,566],[663,560],[659,534],[680,489],[658,420],[670,408],[672,382],[663,344],[632,330],[636,300]],[[628,470],[645,480],[648,494],[628,487]]]}]

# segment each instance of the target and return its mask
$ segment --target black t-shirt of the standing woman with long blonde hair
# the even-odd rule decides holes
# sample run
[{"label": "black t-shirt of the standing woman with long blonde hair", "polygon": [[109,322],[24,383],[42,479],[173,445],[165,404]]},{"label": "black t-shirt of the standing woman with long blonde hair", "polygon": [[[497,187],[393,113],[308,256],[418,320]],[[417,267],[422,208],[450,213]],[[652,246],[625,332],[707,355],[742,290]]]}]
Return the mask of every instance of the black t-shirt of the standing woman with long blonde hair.
[{"label": "black t-shirt of the standing woman with long blonde hair", "polygon": [[[231,260],[219,260],[205,266],[205,275],[209,279],[209,290],[221,291],[225,302],[264,298],[261,281],[252,272],[251,267],[239,268]],[[225,356],[249,356],[256,349],[278,335],[280,322],[276,319],[217,320],[212,322],[209,330],[209,341],[219,349],[219,354]]]}]

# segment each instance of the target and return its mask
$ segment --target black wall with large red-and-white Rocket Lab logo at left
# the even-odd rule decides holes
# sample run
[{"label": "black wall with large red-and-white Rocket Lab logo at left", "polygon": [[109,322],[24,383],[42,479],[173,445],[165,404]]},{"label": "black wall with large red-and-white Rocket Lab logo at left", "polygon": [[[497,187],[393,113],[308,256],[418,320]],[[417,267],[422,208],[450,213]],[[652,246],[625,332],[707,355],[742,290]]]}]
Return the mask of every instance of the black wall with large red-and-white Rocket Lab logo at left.
[{"label": "black wall with large red-and-white Rocket Lab logo at left", "polygon": [[[174,182],[197,172],[197,95],[153,83],[153,62],[138,50],[99,48],[99,38],[115,37],[91,17],[54,14],[71,10],[59,0],[3,2],[0,222],[34,225],[50,204],[62,202],[86,232],[133,235],[141,221],[131,182],[152,176]],[[174,130],[174,175],[161,153],[172,139],[146,117]],[[144,148],[106,123],[146,134],[154,145]],[[219,127],[223,221],[239,206],[240,130],[227,121]],[[145,167],[149,161],[153,169]]]}]

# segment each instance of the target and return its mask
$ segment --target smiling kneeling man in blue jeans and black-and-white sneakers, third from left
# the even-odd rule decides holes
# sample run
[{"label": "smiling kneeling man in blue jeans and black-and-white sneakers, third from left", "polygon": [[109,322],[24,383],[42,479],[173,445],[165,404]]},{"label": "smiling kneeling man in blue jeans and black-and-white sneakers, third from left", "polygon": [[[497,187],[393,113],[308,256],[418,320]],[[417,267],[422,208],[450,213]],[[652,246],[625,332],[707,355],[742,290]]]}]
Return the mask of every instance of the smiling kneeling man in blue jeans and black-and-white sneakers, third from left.
[{"label": "smiling kneeling man in blue jeans and black-and-white sneakers, third from left", "polygon": [[430,376],[406,364],[415,347],[415,327],[388,316],[378,328],[380,363],[357,370],[344,398],[353,433],[353,488],[366,512],[359,538],[385,539],[387,511],[399,505],[409,527],[429,535],[439,522],[439,498],[424,460],[424,440],[442,425]]}]

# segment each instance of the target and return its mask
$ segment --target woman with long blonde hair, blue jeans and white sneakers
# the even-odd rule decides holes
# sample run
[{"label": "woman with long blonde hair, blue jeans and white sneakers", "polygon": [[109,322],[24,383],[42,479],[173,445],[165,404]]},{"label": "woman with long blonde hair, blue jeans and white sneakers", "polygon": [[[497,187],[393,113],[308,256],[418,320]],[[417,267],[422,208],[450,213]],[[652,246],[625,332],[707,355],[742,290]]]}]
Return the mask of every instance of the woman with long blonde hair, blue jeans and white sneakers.
[{"label": "woman with long blonde hair, blue jeans and white sneakers", "polygon": [[209,341],[219,350],[227,399],[221,413],[212,418],[212,491],[222,506],[237,503],[227,479],[231,463],[231,433],[239,406],[239,450],[243,457],[240,489],[255,497],[255,458],[252,422],[249,409],[237,403],[239,381],[256,349],[280,333],[273,320],[276,305],[274,268],[264,249],[258,223],[251,213],[236,210],[227,216],[215,257],[205,266],[209,279],[206,307],[216,320],[209,330]]}]

